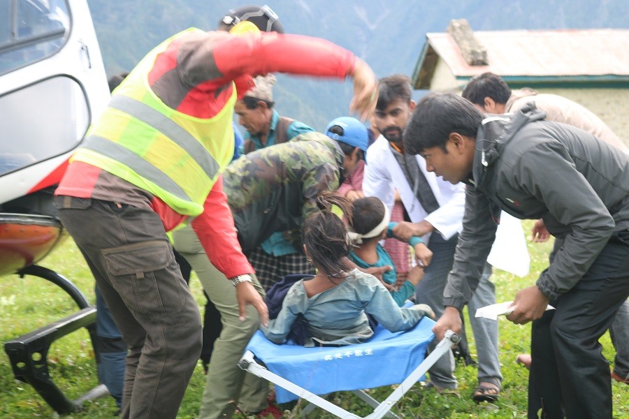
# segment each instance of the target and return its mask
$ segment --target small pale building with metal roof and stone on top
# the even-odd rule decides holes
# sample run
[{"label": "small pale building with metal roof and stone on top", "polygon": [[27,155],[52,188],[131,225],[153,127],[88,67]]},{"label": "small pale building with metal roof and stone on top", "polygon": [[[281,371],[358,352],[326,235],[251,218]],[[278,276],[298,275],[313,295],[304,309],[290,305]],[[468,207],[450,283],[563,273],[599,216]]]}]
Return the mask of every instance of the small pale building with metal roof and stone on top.
[{"label": "small pale building with metal roof and stone on top", "polygon": [[458,91],[490,71],[509,87],[570,98],[598,115],[629,145],[629,30],[472,32],[453,20],[426,34],[413,73],[415,89]]}]

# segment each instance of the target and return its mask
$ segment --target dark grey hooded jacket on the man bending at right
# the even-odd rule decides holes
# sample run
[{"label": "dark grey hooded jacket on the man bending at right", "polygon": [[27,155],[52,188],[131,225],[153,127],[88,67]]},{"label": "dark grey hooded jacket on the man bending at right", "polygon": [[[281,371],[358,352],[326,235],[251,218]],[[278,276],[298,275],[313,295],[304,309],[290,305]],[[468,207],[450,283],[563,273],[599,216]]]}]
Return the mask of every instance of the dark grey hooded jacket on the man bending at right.
[{"label": "dark grey hooded jacket on the man bending at right", "polygon": [[586,131],[544,121],[533,103],[479,127],[463,231],[444,290],[461,309],[475,290],[500,210],[542,218],[565,244],[537,280],[554,300],[583,277],[614,231],[629,228],[629,156]]}]

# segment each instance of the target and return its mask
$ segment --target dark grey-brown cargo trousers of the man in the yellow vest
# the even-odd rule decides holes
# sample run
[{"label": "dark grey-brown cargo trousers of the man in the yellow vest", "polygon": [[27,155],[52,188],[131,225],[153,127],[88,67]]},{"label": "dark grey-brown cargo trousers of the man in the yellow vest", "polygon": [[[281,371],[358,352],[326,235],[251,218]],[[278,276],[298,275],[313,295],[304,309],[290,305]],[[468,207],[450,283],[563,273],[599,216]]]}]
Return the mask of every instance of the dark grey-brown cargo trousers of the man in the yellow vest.
[{"label": "dark grey-brown cargo trousers of the man in the yellow vest", "polygon": [[101,200],[55,203],[129,346],[122,418],[175,418],[201,354],[201,316],[161,219]]}]

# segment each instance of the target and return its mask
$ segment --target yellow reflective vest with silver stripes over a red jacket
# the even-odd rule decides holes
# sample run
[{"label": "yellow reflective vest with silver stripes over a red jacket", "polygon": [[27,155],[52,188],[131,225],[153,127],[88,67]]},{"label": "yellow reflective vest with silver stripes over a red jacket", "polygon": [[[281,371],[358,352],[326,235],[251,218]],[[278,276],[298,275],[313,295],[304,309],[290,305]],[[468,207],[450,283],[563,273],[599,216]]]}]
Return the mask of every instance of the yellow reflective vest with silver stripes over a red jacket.
[{"label": "yellow reflective vest with silver stripes over a red jacket", "polygon": [[154,94],[148,75],[157,55],[187,29],[154,48],[115,90],[71,161],[82,161],[149,191],[180,214],[203,212],[219,172],[233,156],[236,87],[211,118],[185,115]]}]

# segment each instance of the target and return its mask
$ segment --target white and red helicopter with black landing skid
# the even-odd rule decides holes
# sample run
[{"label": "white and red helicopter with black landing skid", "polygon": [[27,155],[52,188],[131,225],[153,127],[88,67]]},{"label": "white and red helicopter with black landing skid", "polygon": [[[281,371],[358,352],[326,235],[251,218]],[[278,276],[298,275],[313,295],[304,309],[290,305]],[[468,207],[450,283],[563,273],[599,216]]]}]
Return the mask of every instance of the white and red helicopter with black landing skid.
[{"label": "white and red helicopter with black landing skid", "polygon": [[0,277],[50,281],[78,308],[4,348],[17,380],[32,385],[57,413],[71,413],[106,388],[68,399],[50,376],[48,349],[80,328],[94,346],[96,307],[41,263],[68,236],[53,193],[110,99],[107,76],[87,0],[3,1],[0,15],[9,17],[0,20]]}]

